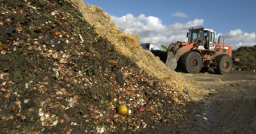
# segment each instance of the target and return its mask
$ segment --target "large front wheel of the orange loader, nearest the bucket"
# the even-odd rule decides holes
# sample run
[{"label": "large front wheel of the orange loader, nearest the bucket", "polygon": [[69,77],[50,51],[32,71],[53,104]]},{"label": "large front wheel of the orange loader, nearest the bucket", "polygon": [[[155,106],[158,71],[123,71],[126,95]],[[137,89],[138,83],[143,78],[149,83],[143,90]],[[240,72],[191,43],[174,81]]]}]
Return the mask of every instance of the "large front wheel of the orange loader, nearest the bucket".
[{"label": "large front wheel of the orange loader, nearest the bucket", "polygon": [[202,63],[202,57],[198,52],[186,52],[181,57],[181,70],[184,73],[199,73]]}]

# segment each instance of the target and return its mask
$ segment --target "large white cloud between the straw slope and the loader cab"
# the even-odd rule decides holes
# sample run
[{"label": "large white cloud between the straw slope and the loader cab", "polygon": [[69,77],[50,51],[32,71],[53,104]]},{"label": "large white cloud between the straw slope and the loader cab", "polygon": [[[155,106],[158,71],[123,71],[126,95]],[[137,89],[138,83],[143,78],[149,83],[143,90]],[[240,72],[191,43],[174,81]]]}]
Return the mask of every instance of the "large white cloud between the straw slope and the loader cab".
[{"label": "large white cloud between the straw slope and the loader cab", "polygon": [[163,25],[160,18],[154,16],[146,17],[140,14],[126,14],[120,18],[111,16],[112,20],[125,33],[138,34],[141,42],[150,42],[161,48],[161,44],[169,46],[171,42],[187,41],[186,33],[189,27],[203,24],[203,20],[195,19],[186,24]]}]

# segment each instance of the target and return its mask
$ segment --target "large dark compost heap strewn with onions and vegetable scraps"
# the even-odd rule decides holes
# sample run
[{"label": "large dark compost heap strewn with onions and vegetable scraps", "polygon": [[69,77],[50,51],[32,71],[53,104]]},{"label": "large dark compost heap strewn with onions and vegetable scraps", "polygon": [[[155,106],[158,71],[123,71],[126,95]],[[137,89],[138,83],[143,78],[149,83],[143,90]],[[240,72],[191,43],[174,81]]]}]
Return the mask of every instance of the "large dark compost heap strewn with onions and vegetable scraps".
[{"label": "large dark compost heap strewn with onions and vegetable scraps", "polygon": [[182,122],[191,101],[117,54],[67,1],[0,0],[0,46],[2,133],[142,131]]}]

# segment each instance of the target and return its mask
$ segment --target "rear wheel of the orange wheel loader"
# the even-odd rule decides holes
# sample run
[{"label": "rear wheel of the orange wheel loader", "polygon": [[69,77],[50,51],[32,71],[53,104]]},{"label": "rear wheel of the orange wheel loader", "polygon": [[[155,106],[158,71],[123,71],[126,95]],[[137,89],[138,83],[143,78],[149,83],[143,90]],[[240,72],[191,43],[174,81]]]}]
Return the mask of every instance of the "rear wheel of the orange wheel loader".
[{"label": "rear wheel of the orange wheel loader", "polygon": [[232,59],[226,54],[221,54],[215,58],[217,68],[213,69],[217,74],[228,74],[232,69]]}]

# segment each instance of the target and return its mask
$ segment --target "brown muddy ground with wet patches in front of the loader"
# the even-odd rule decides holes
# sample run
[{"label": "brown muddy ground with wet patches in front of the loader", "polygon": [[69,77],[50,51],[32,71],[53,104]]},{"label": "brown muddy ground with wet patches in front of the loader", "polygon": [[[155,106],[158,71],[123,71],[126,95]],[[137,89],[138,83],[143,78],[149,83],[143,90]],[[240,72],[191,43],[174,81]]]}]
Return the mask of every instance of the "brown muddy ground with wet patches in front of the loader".
[{"label": "brown muddy ground with wet patches in front of the loader", "polygon": [[199,93],[206,90],[208,95],[188,105],[186,114],[177,124],[150,127],[150,133],[256,133],[255,72],[232,71],[228,75],[215,75],[210,70],[184,75],[196,81]]}]

